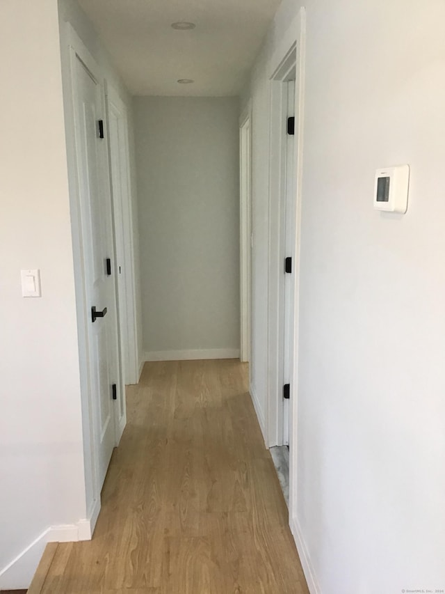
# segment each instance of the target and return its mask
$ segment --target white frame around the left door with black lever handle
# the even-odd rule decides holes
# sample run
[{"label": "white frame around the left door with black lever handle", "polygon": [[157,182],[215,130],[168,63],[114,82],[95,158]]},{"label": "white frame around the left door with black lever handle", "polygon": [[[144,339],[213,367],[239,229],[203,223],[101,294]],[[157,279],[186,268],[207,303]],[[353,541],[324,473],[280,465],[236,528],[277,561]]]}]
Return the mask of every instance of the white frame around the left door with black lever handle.
[{"label": "white frame around the left door with black lever handle", "polygon": [[[101,508],[100,492],[102,485],[99,481],[99,453],[97,448],[98,435],[96,423],[96,408],[92,394],[92,374],[90,369],[90,341],[88,328],[90,325],[90,303],[87,302],[86,274],[84,268],[84,246],[82,241],[82,225],[80,210],[79,163],[76,148],[75,107],[76,93],[76,60],[79,59],[102,88],[102,114],[106,121],[106,79],[102,75],[95,58],[92,57],[86,45],[77,35],[70,23],[66,23],[64,38],[61,43],[63,60],[63,100],[65,107],[65,134],[67,143],[67,173],[70,187],[70,213],[72,225],[72,246],[74,260],[74,287],[76,295],[77,331],[79,344],[79,378],[81,388],[81,412],[83,432],[83,463],[86,494],[86,521],[83,523],[83,533],[79,532],[79,540],[89,540],[95,529],[97,517]],[[104,169],[108,166],[108,159],[104,159]],[[104,171],[104,179],[108,182],[109,175]],[[117,323],[117,318],[115,320]],[[116,345],[118,353],[118,346]],[[119,368],[119,365],[118,365]],[[119,369],[118,369],[119,373]],[[122,383],[122,382],[121,382]],[[115,407],[115,405],[114,405]],[[113,416],[116,414],[114,412]],[[115,419],[113,426],[116,427]],[[115,432],[115,445],[118,437]]]}]

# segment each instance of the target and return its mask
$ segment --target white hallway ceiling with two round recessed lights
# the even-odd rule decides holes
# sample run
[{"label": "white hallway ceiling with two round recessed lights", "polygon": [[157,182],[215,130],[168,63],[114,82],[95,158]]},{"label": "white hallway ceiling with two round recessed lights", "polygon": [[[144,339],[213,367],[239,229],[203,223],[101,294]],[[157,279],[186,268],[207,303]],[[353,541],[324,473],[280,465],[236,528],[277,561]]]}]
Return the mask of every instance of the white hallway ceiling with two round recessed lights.
[{"label": "white hallway ceiling with two round recessed lights", "polygon": [[[79,3],[133,95],[223,96],[241,90],[280,0]],[[196,28],[175,31],[178,21]]]}]

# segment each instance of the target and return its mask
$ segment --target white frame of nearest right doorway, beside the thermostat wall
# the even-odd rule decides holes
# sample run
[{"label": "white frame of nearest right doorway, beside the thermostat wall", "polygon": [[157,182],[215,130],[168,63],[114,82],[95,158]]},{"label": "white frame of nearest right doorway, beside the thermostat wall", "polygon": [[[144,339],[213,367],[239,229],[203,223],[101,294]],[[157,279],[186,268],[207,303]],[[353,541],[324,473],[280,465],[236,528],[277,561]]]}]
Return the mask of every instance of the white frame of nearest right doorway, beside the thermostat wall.
[{"label": "white frame of nearest right doorway, beside the thermostat wall", "polygon": [[[280,429],[280,406],[282,383],[279,380],[282,369],[282,347],[280,347],[280,212],[276,208],[275,196],[280,196],[282,188],[282,135],[273,134],[277,118],[282,121],[282,93],[280,80],[289,72],[289,61],[296,54],[296,90],[295,90],[295,150],[296,150],[296,244],[293,251],[293,336],[291,339],[291,400],[289,403],[289,523],[294,536],[297,510],[297,475],[298,475],[298,312],[300,283],[300,230],[302,204],[302,164],[303,164],[303,122],[304,122],[304,80],[305,80],[305,8],[300,8],[298,15],[289,26],[286,35],[273,54],[269,64],[270,80],[270,136],[269,136],[269,212],[268,212],[268,394],[266,445],[277,445]],[[280,130],[280,125],[278,125]],[[278,194],[277,194],[278,192]]]}]

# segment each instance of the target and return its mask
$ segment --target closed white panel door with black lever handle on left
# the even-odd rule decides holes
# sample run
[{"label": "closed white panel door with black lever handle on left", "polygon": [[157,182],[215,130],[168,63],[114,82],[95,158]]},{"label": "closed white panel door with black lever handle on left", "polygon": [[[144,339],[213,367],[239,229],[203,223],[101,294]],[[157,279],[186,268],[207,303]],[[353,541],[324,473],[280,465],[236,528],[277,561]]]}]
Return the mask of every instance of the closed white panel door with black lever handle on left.
[{"label": "closed white panel door with black lever handle on left", "polygon": [[[102,85],[75,56],[73,99],[85,301],[88,308],[88,361],[97,487],[104,483],[115,446],[113,384],[119,386],[113,233],[104,130]],[[109,261],[108,261],[109,260]],[[111,270],[110,270],[111,269]]]}]

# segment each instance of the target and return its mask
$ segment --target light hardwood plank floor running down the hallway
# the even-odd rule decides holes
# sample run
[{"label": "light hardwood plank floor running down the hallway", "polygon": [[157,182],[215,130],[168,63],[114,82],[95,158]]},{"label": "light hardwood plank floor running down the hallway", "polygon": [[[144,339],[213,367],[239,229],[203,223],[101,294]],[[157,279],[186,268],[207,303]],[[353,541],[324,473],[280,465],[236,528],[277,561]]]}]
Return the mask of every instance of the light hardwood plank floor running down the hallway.
[{"label": "light hardwood plank floor running down the hallway", "polygon": [[29,594],[308,594],[247,376],[145,364],[93,539],[49,545]]}]

